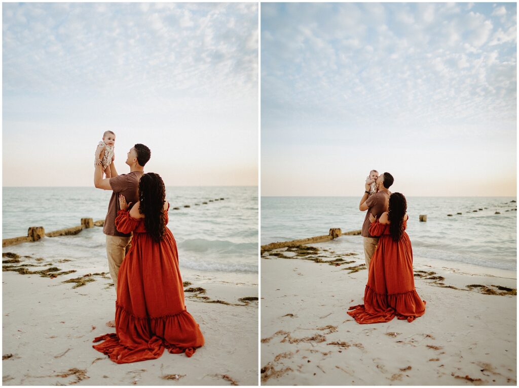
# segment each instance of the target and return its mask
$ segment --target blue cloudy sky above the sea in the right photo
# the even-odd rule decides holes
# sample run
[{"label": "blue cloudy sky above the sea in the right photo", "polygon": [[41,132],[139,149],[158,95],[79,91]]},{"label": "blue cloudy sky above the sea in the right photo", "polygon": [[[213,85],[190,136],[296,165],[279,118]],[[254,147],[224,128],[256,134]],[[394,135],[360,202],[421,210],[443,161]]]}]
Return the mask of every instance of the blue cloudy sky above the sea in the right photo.
[{"label": "blue cloudy sky above the sea in the right photo", "polygon": [[515,196],[515,3],[263,3],[263,196]]}]

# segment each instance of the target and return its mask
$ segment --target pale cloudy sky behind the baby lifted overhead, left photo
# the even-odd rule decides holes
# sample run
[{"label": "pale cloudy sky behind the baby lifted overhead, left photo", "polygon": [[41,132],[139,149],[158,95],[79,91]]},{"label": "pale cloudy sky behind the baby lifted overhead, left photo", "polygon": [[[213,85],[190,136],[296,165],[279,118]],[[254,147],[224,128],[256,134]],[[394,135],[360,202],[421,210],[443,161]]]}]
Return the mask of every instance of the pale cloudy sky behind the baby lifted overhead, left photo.
[{"label": "pale cloudy sky behind the baby lifted overhead, left photo", "polygon": [[3,186],[92,186],[105,131],[166,185],[257,185],[253,3],[3,3]]}]

